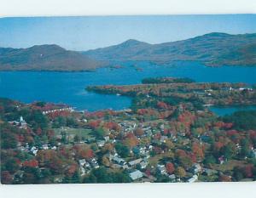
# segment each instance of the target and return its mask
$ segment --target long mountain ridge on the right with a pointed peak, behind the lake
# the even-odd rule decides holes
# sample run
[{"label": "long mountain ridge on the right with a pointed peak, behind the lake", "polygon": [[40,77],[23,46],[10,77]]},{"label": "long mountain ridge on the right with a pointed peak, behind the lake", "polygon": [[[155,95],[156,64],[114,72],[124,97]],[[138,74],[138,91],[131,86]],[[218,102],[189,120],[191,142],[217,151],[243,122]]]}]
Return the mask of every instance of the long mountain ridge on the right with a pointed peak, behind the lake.
[{"label": "long mountain ridge on the right with a pointed peak, behind the lake", "polygon": [[256,34],[212,32],[160,44],[128,40],[84,54],[98,60],[148,60],[163,64],[174,60],[197,60],[206,65],[256,65]]}]

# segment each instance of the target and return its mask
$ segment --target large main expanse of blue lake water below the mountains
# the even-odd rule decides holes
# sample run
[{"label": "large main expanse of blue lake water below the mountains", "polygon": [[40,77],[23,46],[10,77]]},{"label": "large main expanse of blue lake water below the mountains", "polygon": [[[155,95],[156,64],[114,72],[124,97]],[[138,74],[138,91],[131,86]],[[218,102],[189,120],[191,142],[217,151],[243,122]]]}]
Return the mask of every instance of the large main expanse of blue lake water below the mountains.
[{"label": "large main expanse of blue lake water below the mountains", "polygon": [[[128,85],[141,83],[145,77],[190,77],[196,82],[256,83],[256,67],[207,67],[197,62],[155,65],[148,62],[115,63],[122,68],[102,68],[95,72],[1,71],[0,97],[30,103],[47,101],[65,103],[78,110],[122,110],[131,105],[123,96],[85,91],[89,85]],[[141,70],[142,69],[142,70]]]}]

